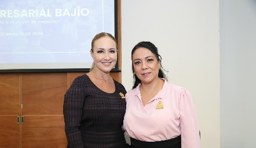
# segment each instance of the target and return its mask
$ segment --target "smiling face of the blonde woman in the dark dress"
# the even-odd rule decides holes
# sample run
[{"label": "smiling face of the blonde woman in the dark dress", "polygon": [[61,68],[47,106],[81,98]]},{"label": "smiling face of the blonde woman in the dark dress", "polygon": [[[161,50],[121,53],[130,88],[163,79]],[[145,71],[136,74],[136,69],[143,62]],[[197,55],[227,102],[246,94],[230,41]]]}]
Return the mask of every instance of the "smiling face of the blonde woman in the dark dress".
[{"label": "smiling face of the blonde woman in the dark dress", "polygon": [[93,57],[95,67],[104,73],[109,73],[116,64],[118,54],[116,52],[116,43],[108,36],[97,39],[94,42],[93,52],[90,51]]}]

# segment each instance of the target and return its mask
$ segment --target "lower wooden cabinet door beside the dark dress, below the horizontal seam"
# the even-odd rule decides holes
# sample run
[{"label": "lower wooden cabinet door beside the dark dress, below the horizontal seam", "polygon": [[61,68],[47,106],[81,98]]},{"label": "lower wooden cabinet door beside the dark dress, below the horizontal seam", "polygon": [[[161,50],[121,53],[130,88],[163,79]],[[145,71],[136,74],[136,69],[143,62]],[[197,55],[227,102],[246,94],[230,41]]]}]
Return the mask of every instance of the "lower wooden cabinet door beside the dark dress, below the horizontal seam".
[{"label": "lower wooden cabinet door beside the dark dress, below the horizontal seam", "polygon": [[25,115],[21,124],[22,147],[66,148],[62,115]]}]

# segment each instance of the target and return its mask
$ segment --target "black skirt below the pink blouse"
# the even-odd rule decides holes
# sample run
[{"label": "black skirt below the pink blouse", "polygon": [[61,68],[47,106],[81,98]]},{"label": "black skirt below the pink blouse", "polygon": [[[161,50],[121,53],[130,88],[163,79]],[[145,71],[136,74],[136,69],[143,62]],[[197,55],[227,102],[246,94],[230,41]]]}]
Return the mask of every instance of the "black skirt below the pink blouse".
[{"label": "black skirt below the pink blouse", "polygon": [[181,148],[181,135],[169,140],[162,140],[156,142],[145,142],[131,139],[131,148]]}]

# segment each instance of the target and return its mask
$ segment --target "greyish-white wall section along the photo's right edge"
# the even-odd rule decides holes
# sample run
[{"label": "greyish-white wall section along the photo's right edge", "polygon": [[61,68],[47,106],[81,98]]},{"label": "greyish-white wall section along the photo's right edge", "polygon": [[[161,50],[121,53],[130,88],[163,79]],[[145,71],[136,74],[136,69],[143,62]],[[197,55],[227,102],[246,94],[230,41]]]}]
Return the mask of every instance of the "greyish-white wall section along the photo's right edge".
[{"label": "greyish-white wall section along the photo's right edge", "polygon": [[220,0],[221,147],[256,147],[256,1]]}]

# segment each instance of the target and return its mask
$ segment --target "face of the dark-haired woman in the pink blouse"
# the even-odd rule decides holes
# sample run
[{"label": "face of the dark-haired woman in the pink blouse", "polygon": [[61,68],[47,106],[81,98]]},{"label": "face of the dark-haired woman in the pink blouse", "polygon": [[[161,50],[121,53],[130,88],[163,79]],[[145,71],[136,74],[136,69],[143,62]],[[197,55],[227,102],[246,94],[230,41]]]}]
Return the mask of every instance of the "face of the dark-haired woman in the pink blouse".
[{"label": "face of the dark-haired woman in the pink blouse", "polygon": [[132,56],[134,72],[142,84],[149,84],[158,79],[160,61],[150,50],[140,47]]}]

